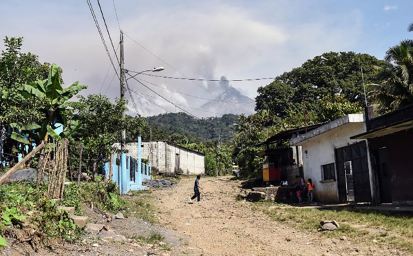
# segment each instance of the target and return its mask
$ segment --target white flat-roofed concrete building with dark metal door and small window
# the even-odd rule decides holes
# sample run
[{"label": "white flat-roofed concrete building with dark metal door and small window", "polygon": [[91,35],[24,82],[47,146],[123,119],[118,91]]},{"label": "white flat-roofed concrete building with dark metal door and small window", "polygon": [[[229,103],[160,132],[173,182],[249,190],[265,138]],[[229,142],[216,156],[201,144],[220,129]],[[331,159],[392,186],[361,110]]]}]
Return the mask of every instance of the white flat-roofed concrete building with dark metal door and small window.
[{"label": "white flat-roofed concrete building with dark metal door and small window", "polygon": [[370,156],[366,140],[350,137],[366,132],[363,114],[349,114],[290,140],[301,146],[304,179],[315,184],[319,202],[370,202]]}]

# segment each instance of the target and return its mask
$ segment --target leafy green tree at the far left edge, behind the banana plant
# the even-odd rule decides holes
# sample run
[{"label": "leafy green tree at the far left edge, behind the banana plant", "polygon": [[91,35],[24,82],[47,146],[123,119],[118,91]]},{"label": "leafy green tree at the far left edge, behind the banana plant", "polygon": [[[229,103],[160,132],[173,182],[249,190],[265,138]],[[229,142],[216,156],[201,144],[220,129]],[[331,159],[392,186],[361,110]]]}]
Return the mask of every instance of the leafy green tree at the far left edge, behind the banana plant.
[{"label": "leafy green tree at the far left edge, behind the banana plant", "polygon": [[[32,124],[41,122],[45,118],[41,109],[47,105],[45,98],[26,98],[21,94],[21,85],[47,78],[50,70],[50,64],[41,64],[35,54],[21,53],[22,43],[21,37],[6,36],[4,39],[6,49],[1,51],[0,56],[0,137],[2,138],[0,146],[7,151],[8,156],[12,157],[6,159],[10,164],[15,160],[13,155],[17,151],[20,150],[24,156],[32,148],[29,144],[26,150],[22,142],[12,140],[10,137],[14,135],[14,138],[17,138],[17,134],[20,134],[19,129],[30,129],[33,127]],[[19,140],[28,143],[23,136],[20,136]]]}]

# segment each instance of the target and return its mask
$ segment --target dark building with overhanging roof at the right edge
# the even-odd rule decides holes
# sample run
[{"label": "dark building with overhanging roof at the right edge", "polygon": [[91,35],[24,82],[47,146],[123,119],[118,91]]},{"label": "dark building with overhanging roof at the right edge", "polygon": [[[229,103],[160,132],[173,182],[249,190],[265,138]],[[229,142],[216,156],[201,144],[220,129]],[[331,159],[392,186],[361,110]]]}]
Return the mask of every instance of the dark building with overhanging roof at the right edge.
[{"label": "dark building with overhanging roof at the right edge", "polygon": [[366,116],[367,131],[353,136],[368,139],[372,159],[372,203],[413,205],[413,105],[374,118]]}]

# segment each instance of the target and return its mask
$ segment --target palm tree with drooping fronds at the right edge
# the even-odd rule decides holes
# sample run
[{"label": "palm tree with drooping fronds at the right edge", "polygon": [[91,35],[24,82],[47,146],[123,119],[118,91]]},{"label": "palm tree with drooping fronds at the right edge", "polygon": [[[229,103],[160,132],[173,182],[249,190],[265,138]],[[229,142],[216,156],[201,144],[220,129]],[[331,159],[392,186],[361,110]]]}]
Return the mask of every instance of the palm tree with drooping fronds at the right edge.
[{"label": "palm tree with drooping fronds at the right edge", "polygon": [[390,47],[380,67],[381,84],[371,85],[372,99],[379,111],[386,112],[413,104],[413,40],[403,40]]}]

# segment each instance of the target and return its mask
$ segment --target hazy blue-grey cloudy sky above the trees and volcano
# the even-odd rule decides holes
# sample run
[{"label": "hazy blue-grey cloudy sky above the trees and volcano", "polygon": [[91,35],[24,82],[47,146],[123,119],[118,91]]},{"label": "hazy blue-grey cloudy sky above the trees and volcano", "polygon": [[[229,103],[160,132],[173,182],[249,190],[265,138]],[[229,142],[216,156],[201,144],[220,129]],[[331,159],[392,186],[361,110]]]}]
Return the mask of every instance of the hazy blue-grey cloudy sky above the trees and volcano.
[{"label": "hazy blue-grey cloudy sky above the trees and volcano", "polygon": [[[98,3],[91,3],[118,67]],[[324,52],[352,51],[383,59],[389,47],[413,39],[413,32],[407,32],[413,22],[411,0],[100,0],[100,6],[116,49],[120,29],[125,33],[125,69],[142,72],[165,67],[162,72],[145,73],[160,76],[275,77]],[[118,78],[87,1],[0,0],[0,36],[23,36],[22,52],[62,67],[66,86],[75,81],[88,86],[81,94],[100,93],[112,100],[120,96]],[[151,90],[128,80],[140,94],[132,93],[142,116],[182,111],[179,107],[195,116],[215,116],[197,109],[208,102],[200,98],[219,97],[223,92],[219,82],[145,74],[136,77]],[[271,81],[230,85],[255,98],[257,88]],[[131,100],[128,107],[129,114],[136,115]]]}]

